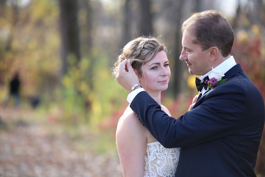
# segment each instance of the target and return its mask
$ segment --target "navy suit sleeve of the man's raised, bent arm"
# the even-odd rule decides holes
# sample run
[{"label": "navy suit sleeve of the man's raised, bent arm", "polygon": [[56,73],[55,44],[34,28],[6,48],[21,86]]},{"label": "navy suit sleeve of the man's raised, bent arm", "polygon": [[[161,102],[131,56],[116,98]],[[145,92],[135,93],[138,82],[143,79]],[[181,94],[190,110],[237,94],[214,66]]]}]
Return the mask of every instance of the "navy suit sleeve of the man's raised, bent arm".
[{"label": "navy suit sleeve of the man's raised, bent arm", "polygon": [[199,106],[178,119],[163,112],[146,92],[140,92],[130,107],[165,148],[194,146],[238,130],[246,110],[246,92],[236,84],[219,87],[208,93]]}]

